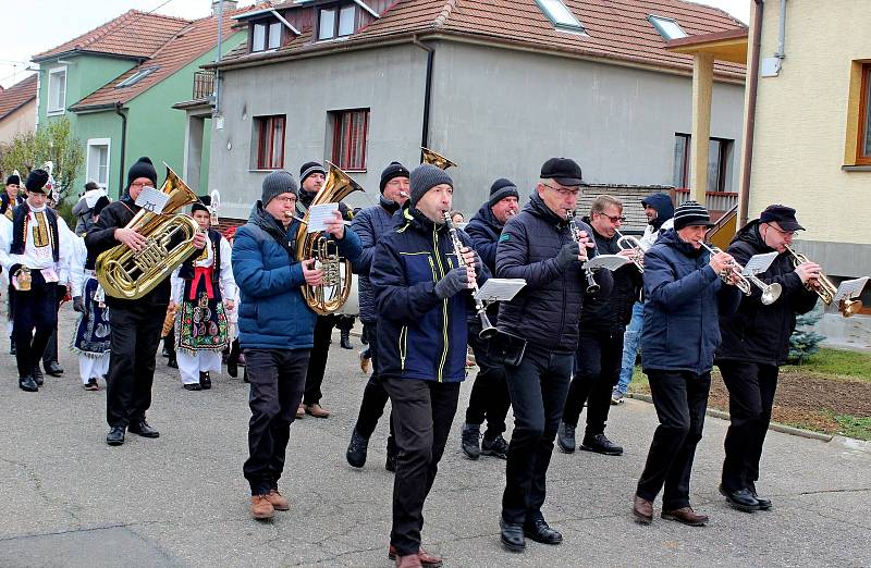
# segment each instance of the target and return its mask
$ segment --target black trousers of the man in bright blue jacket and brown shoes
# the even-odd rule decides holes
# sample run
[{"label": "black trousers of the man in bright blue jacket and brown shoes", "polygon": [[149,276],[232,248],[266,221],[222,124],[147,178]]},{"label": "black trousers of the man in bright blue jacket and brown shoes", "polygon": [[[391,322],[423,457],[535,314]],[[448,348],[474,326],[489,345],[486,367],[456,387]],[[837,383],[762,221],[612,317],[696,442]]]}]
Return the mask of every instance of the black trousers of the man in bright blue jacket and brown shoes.
[{"label": "black trousers of the man in bright blue jacket and brown shoes", "polygon": [[252,495],[278,489],[291,424],[303,398],[309,349],[245,349],[250,381],[248,459],[242,470]]}]

